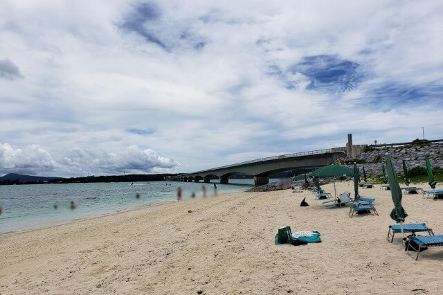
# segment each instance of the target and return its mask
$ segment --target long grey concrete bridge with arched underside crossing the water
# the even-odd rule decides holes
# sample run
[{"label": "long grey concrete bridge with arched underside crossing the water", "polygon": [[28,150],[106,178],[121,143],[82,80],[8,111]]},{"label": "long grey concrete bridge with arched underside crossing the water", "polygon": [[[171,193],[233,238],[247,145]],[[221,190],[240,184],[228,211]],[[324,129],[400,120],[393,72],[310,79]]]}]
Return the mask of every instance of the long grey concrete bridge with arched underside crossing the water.
[{"label": "long grey concrete bridge with arched underside crossing the water", "polygon": [[253,175],[255,186],[262,186],[269,183],[269,175],[273,172],[293,168],[326,166],[334,163],[338,158],[345,157],[347,150],[349,150],[348,147],[336,147],[327,150],[282,154],[280,156],[187,173],[176,177],[168,177],[168,180],[186,182],[199,182],[203,180],[205,183],[209,183],[211,178],[219,177],[220,184],[228,184],[228,179],[231,175],[244,173],[246,175]]}]

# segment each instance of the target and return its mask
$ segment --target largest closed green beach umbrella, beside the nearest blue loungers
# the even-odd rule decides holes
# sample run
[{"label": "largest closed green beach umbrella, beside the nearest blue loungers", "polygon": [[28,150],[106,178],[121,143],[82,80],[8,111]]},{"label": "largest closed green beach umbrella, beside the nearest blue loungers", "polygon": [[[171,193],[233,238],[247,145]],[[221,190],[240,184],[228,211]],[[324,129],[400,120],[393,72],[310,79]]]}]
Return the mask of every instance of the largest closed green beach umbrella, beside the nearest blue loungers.
[{"label": "largest closed green beach umbrella, beside the nearest blue loungers", "polygon": [[406,211],[404,211],[403,206],[401,206],[401,199],[403,198],[403,195],[401,195],[399,181],[397,180],[397,172],[392,165],[392,161],[390,161],[388,153],[386,153],[386,169],[388,169],[390,194],[392,196],[392,202],[394,203],[394,208],[390,213],[390,217],[395,220],[395,222],[399,222],[401,235],[403,235],[404,238],[403,222],[408,214]]}]

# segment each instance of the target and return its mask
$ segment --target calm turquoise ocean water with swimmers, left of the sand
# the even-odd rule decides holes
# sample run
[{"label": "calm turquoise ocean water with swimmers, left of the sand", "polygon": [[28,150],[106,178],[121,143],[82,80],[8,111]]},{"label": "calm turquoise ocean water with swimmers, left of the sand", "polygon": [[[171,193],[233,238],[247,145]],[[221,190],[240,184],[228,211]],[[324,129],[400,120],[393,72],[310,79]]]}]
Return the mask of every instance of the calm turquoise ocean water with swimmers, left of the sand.
[{"label": "calm turquoise ocean water with swimmers, left of the sand", "polygon": [[[229,182],[214,182],[217,193],[244,191],[253,187],[253,179],[229,179]],[[202,186],[206,187],[206,194],[210,197],[214,194],[214,183],[153,181],[0,186],[0,206],[3,208],[0,233],[64,224],[150,204],[176,202],[179,186],[183,190],[183,199],[192,193],[197,198],[202,197]],[[137,194],[140,195],[138,199]],[[71,201],[76,205],[75,210],[69,206]]]}]

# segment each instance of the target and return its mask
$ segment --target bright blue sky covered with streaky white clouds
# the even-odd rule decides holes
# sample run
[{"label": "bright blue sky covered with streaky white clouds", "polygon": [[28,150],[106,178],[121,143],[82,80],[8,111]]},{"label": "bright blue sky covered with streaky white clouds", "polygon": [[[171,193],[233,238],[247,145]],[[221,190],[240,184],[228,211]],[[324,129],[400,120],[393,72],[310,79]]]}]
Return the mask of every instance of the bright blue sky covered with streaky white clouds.
[{"label": "bright blue sky covered with streaky white clouds", "polygon": [[0,175],[443,138],[443,1],[0,3]]}]

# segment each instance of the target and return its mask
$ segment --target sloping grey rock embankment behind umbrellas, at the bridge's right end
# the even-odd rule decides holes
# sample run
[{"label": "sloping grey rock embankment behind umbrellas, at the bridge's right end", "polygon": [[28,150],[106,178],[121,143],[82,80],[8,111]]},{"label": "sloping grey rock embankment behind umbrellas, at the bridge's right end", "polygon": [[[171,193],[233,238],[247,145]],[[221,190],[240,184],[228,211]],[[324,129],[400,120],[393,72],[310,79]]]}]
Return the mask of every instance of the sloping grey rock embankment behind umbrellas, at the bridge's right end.
[{"label": "sloping grey rock embankment behind umbrellas, at the bridge's right end", "polygon": [[379,147],[359,154],[355,159],[341,158],[338,162],[352,168],[354,162],[359,169],[365,167],[367,175],[380,175],[381,163],[386,152],[390,155],[397,172],[403,172],[402,160],[406,161],[408,169],[417,166],[425,167],[424,155],[427,154],[433,168],[443,168],[443,143],[430,143],[426,145],[402,145],[398,147]]}]

